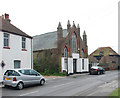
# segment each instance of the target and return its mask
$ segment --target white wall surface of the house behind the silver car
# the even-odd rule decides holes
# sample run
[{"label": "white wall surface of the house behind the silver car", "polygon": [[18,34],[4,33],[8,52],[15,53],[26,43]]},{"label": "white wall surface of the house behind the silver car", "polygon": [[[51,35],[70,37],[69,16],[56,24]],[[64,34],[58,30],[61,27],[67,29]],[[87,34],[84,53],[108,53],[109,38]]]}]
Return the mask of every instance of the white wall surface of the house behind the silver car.
[{"label": "white wall surface of the house behind the silver car", "polygon": [[22,36],[10,34],[9,37],[10,49],[2,48],[2,60],[5,63],[3,72],[14,68],[14,60],[21,61],[21,68],[31,68],[31,39],[26,38],[27,51],[22,51]]}]

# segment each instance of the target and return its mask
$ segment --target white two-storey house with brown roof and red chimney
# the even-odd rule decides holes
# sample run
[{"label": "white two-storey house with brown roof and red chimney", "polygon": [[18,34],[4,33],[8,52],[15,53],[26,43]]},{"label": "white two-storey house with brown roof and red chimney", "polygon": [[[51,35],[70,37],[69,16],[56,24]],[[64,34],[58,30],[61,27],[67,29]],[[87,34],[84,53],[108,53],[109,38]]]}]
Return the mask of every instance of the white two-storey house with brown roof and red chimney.
[{"label": "white two-storey house with brown roof and red chimney", "polygon": [[7,69],[33,68],[32,37],[11,24],[9,14],[0,16],[0,82]]}]

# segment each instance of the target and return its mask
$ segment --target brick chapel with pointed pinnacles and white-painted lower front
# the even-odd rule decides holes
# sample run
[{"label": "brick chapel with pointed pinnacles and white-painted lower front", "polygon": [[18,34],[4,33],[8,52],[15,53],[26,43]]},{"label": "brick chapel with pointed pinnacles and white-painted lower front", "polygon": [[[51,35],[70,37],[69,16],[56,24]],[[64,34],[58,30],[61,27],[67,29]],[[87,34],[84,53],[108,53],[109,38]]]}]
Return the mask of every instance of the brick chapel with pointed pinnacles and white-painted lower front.
[{"label": "brick chapel with pointed pinnacles and white-painted lower front", "polygon": [[88,46],[87,35],[80,36],[79,24],[63,29],[59,22],[57,31],[33,37],[34,68],[41,72],[87,72]]}]

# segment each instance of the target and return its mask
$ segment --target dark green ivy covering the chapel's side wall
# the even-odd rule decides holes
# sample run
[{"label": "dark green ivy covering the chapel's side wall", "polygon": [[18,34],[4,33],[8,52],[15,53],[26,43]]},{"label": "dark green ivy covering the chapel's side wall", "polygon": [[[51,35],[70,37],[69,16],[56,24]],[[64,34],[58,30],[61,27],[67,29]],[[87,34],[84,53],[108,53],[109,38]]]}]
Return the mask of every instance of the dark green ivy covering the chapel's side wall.
[{"label": "dark green ivy covering the chapel's side wall", "polygon": [[58,55],[52,56],[52,52],[44,51],[44,56],[41,56],[40,53],[39,59],[34,58],[33,66],[34,69],[42,74],[55,74],[59,73],[59,58]]}]

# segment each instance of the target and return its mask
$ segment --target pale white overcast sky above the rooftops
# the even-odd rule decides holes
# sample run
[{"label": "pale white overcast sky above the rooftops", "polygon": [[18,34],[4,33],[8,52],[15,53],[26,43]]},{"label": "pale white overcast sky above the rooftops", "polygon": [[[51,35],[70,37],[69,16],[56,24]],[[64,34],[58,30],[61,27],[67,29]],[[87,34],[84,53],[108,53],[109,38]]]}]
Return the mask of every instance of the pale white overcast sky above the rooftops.
[{"label": "pale white overcast sky above the rooftops", "polygon": [[1,0],[0,15],[7,13],[11,23],[30,36],[57,30],[67,21],[80,25],[87,34],[88,54],[99,47],[118,52],[119,0]]}]

